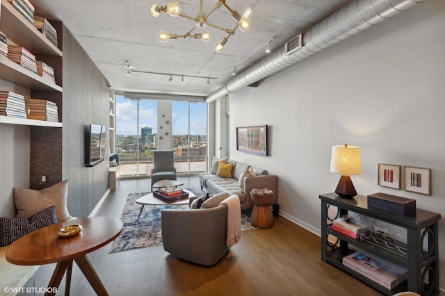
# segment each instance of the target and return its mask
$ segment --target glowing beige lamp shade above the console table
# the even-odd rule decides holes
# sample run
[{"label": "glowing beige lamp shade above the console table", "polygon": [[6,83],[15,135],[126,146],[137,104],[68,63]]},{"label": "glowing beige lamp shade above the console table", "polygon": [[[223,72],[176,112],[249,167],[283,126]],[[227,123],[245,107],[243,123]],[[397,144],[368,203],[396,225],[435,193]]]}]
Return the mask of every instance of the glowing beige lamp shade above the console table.
[{"label": "glowing beige lamp shade above the console table", "polygon": [[360,147],[348,144],[332,146],[331,172],[346,176],[362,174]]}]

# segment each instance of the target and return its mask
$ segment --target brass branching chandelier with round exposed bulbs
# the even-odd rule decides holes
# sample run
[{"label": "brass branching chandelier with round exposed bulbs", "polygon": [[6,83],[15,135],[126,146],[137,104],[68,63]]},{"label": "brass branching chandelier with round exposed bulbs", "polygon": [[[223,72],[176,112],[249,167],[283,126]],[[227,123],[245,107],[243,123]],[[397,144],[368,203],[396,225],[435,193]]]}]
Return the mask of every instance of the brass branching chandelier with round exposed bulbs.
[{"label": "brass branching chandelier with round exposed bulbs", "polygon": [[[232,8],[229,8],[229,6],[227,6],[227,4],[225,3],[225,0],[219,0],[218,3],[216,3],[216,6],[212,10],[210,10],[210,12],[207,13],[207,15],[204,15],[202,13],[202,1],[203,0],[201,0],[201,3],[200,3],[200,14],[197,17],[189,17],[188,15],[182,14],[181,6],[179,5],[179,3],[177,3],[177,1],[170,1],[170,2],[168,2],[167,6],[159,6],[157,4],[152,4],[152,6],[150,7],[150,13],[154,17],[159,17],[159,15],[161,15],[161,13],[168,13],[172,17],[177,17],[179,15],[180,17],[185,17],[186,19],[191,19],[195,22],[195,26],[193,26],[193,28],[191,28],[191,30],[188,31],[187,33],[185,33],[184,35],[177,35],[175,33],[166,33],[164,31],[161,31],[158,35],[159,40],[161,40],[161,42],[166,42],[169,39],[177,39],[177,38],[187,39],[189,37],[192,37],[195,39],[202,39],[204,41],[208,41],[210,39],[209,32],[204,31],[202,33],[193,34],[193,35],[192,35],[192,33],[193,33],[193,31],[195,31],[196,28],[204,28],[206,26],[211,26],[213,28],[217,28],[218,30],[225,31],[226,33],[229,34],[229,35],[227,35],[227,37],[223,38],[222,40],[220,40],[220,42],[215,44],[215,51],[220,52],[223,50],[223,47],[227,43],[227,40],[229,39],[229,37],[231,35],[234,35],[237,28],[240,28],[241,31],[249,30],[249,28],[250,28],[249,17],[252,14],[252,9],[245,8],[245,10],[243,10],[243,14],[240,15],[235,10],[232,10]],[[211,23],[207,22],[207,19],[209,18],[209,16],[212,13],[214,13],[221,6],[224,6],[227,10],[229,10],[229,13],[231,13],[232,19],[234,19],[236,22],[234,28],[232,28],[232,29],[222,28],[220,26],[217,26],[216,24],[211,24]]]}]

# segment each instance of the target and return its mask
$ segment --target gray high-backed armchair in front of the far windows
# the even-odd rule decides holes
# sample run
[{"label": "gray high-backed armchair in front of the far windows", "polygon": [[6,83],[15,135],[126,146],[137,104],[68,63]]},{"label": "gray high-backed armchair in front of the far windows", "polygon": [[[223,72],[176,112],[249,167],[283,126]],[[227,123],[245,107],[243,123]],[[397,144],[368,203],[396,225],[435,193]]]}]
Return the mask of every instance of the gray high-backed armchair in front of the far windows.
[{"label": "gray high-backed armchair in front of the far windows", "polygon": [[153,184],[162,180],[176,180],[176,168],[173,151],[154,151],[152,169],[152,192]]}]

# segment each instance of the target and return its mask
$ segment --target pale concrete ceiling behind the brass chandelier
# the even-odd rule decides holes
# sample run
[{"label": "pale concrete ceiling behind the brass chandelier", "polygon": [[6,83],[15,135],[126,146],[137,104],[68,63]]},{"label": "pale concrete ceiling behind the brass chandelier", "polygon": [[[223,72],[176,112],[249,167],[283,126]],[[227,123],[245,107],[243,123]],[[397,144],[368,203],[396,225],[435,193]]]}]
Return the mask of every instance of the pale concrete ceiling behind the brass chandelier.
[{"label": "pale concrete ceiling behind the brass chandelier", "polygon": [[[181,0],[181,13],[195,17],[200,12],[200,0]],[[217,0],[204,0],[204,15]],[[184,35],[194,26],[190,19],[161,14],[152,17],[152,3],[166,6],[168,0],[34,0],[36,15],[62,21],[85,49],[93,63],[115,90],[193,94],[207,96],[232,79],[237,72],[253,65],[266,55],[266,43],[275,51],[299,33],[331,15],[352,0],[227,0],[232,10],[242,13],[250,7],[251,28],[239,29],[229,38],[223,51],[216,53],[214,45],[227,33],[207,27],[208,42],[193,38],[160,42],[159,31]],[[233,28],[234,20],[225,8],[218,8],[209,22]],[[193,33],[202,33],[201,29]],[[173,74],[127,75],[128,61],[134,71]],[[207,84],[207,79],[181,75],[218,78]]]}]

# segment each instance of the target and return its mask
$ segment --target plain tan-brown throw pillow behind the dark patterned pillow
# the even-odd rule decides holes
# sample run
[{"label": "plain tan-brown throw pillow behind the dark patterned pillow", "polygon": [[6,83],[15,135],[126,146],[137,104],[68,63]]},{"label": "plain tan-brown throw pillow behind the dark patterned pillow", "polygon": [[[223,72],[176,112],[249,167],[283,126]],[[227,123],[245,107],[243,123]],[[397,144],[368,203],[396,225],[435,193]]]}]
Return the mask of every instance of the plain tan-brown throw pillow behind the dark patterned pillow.
[{"label": "plain tan-brown throw pillow behind the dark patterned pillow", "polygon": [[56,207],[58,222],[70,219],[67,209],[68,181],[60,181],[41,190],[13,188],[17,218],[27,218],[49,206]]}]

